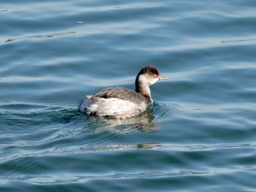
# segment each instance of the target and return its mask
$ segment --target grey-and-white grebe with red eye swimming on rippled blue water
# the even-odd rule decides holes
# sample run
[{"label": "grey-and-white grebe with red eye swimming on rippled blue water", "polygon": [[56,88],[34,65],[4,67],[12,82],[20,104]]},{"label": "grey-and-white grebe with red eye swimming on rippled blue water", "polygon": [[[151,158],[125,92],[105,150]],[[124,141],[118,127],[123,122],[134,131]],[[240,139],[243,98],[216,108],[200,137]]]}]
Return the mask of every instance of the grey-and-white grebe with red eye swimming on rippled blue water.
[{"label": "grey-and-white grebe with red eye swimming on rippled blue water", "polygon": [[79,110],[88,115],[113,118],[138,115],[153,104],[149,85],[166,79],[159,75],[156,67],[146,66],[136,77],[135,91],[128,88],[105,88],[94,96],[87,96],[80,104]]}]

